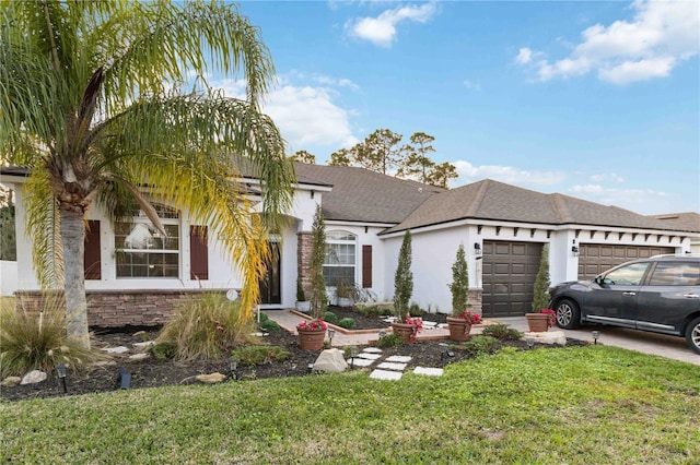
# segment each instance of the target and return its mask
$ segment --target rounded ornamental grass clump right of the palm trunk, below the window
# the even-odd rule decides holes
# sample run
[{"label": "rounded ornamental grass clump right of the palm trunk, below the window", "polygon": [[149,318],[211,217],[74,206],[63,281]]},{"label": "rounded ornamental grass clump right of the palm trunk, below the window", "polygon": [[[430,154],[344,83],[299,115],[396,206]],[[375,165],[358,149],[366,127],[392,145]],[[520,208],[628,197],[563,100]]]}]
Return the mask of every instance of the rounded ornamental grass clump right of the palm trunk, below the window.
[{"label": "rounded ornamental grass clump right of the palm trunk, below the window", "polygon": [[240,301],[205,293],[177,307],[156,343],[175,344],[175,359],[207,360],[222,357],[235,345],[254,342],[254,331],[255,322],[243,318]]}]

